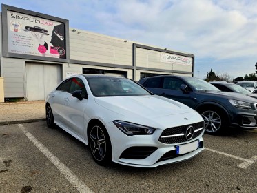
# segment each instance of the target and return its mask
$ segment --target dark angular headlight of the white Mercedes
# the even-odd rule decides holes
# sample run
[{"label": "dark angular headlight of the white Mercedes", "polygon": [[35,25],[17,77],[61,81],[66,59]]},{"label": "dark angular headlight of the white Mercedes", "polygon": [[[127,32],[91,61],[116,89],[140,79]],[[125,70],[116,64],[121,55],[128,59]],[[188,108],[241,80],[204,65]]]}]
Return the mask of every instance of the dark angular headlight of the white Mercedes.
[{"label": "dark angular headlight of the white Mercedes", "polygon": [[119,130],[128,136],[138,135],[138,134],[153,134],[155,129],[144,125],[138,125],[135,123],[129,123],[125,121],[112,121]]}]

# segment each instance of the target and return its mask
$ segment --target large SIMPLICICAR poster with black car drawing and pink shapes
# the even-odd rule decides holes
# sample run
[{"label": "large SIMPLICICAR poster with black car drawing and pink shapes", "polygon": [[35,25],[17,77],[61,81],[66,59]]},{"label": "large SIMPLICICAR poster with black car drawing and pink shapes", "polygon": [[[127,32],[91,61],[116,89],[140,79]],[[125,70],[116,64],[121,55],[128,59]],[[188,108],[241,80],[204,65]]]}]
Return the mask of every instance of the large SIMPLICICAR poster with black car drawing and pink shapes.
[{"label": "large SIMPLICICAR poster with black car drawing and pink shapes", "polygon": [[7,10],[8,52],[66,59],[65,23]]}]

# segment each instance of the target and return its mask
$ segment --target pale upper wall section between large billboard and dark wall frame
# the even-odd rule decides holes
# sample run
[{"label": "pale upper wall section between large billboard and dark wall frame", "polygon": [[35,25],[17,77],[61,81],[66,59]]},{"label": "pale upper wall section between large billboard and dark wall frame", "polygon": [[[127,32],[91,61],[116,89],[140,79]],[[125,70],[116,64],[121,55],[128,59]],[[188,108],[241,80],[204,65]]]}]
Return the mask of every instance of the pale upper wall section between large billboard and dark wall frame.
[{"label": "pale upper wall section between large billboard and dark wall frame", "polygon": [[70,59],[132,65],[132,42],[70,28]]}]

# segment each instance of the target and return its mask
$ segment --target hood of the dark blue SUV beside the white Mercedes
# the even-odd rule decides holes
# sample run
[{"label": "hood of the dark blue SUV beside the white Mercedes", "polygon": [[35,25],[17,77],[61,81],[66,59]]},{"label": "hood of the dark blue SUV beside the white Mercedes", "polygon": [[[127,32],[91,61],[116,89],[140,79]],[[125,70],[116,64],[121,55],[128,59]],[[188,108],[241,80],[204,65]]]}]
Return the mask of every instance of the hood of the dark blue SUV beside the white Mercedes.
[{"label": "hood of the dark blue SUV beside the white Mercedes", "polygon": [[199,92],[205,95],[209,95],[210,97],[223,97],[224,99],[234,99],[238,101],[245,101],[247,103],[257,103],[257,99],[254,97],[247,96],[245,94],[240,94],[236,92],[222,92],[222,91],[205,91]]}]

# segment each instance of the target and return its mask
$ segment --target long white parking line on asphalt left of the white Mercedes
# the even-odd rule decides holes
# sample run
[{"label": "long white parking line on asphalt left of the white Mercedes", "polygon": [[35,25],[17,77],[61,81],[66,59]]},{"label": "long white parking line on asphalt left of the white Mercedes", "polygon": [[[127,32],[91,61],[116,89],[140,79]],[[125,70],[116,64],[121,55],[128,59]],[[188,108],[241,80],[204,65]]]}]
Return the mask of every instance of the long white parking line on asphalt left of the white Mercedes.
[{"label": "long white parking line on asphalt left of the white Mercedes", "polygon": [[19,128],[23,131],[23,133],[30,139],[32,143],[54,164],[54,166],[65,176],[66,179],[74,186],[76,187],[76,190],[78,190],[81,193],[91,193],[92,190],[90,190],[89,187],[86,185],[83,185],[83,183],[78,179],[78,177],[70,171],[66,165],[64,165],[52,152],[48,150],[48,148],[45,148],[45,146],[40,143],[30,132],[28,132],[25,127],[21,124],[18,125]]}]

